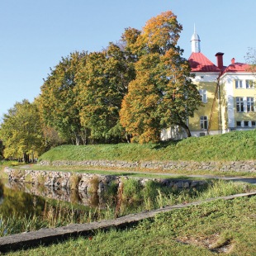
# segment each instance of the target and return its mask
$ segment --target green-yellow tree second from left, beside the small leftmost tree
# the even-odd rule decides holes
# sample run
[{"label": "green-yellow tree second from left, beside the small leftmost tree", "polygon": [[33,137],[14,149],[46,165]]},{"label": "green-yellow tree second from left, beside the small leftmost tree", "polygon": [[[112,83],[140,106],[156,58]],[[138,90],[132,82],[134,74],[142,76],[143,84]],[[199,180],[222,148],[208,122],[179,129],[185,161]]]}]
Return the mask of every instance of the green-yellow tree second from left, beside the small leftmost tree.
[{"label": "green-yellow tree second from left, beside the small leftmost tree", "polygon": [[40,115],[45,126],[53,127],[66,140],[79,145],[83,137],[78,108],[78,89],[75,75],[79,62],[86,61],[87,54],[74,52],[62,58],[40,88],[38,98]]}]

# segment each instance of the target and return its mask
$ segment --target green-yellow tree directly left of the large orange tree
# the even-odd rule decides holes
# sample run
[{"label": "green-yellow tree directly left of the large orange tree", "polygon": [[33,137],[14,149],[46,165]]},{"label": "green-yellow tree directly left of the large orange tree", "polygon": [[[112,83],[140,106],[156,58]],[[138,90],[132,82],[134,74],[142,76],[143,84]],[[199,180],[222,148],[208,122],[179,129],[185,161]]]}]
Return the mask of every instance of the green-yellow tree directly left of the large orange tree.
[{"label": "green-yellow tree directly left of the large orange tree", "polygon": [[81,122],[92,139],[121,140],[125,132],[119,111],[133,78],[134,64],[121,45],[111,43],[107,50],[88,55],[76,79]]}]

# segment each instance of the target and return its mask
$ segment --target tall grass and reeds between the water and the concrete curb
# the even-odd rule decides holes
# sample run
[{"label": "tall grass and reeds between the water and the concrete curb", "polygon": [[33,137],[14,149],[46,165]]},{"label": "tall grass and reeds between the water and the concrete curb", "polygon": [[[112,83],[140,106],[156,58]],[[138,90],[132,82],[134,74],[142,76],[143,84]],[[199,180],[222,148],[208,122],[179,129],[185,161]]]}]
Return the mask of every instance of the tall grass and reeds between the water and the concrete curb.
[{"label": "tall grass and reeds between the water and the concrete curb", "polygon": [[[161,187],[159,183],[150,181],[141,187],[136,180],[123,181],[123,186],[117,189],[113,183],[111,189],[105,192],[105,208],[92,208],[82,211],[62,203],[55,206],[45,203],[45,209],[40,216],[0,216],[0,235],[11,235],[40,228],[53,228],[71,223],[88,223],[95,220],[113,219],[130,213],[149,211],[178,203],[203,200],[209,197],[222,197],[231,194],[248,192],[252,187],[244,183],[214,181],[200,189],[187,190]],[[116,193],[117,192],[117,193]],[[36,206],[35,206],[36,207]]]}]

